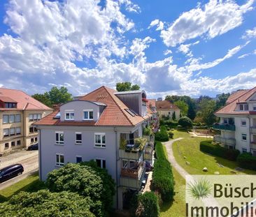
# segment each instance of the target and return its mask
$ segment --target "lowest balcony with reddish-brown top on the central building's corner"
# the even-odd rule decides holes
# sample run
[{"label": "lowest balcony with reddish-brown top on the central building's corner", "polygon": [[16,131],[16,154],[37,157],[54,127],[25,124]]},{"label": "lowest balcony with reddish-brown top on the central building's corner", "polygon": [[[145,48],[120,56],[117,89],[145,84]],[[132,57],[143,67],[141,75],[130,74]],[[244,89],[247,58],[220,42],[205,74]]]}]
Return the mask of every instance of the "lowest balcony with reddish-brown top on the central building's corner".
[{"label": "lowest balcony with reddish-brown top on the central building's corner", "polygon": [[145,175],[145,162],[138,163],[137,167],[122,168],[120,186],[141,189],[141,182]]}]

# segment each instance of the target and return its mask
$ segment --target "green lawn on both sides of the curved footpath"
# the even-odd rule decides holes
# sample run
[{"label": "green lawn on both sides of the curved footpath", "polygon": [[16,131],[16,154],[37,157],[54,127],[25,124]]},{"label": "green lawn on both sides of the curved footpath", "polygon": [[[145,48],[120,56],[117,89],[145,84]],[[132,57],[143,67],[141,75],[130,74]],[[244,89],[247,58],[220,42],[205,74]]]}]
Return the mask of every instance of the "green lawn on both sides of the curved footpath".
[{"label": "green lawn on both sides of the curved footpath", "polygon": [[[184,131],[173,131],[173,139],[183,137],[183,140],[173,143],[173,154],[179,163],[190,174],[214,174],[214,172],[220,172],[220,174],[232,174],[230,171],[238,167],[236,162],[225,160],[204,154],[199,149],[201,141],[210,140],[209,138],[191,137],[189,133]],[[166,149],[164,147],[166,154]],[[166,154],[167,155],[167,154]],[[184,158],[184,156],[186,158]],[[190,165],[185,162],[189,161]],[[224,165],[219,167],[218,163]],[[203,167],[208,168],[208,172],[203,172]],[[244,170],[239,174],[256,174],[256,171]],[[175,196],[173,202],[169,204],[162,204],[160,207],[161,217],[180,217],[185,216],[185,179],[173,168],[173,176],[175,179]]]}]

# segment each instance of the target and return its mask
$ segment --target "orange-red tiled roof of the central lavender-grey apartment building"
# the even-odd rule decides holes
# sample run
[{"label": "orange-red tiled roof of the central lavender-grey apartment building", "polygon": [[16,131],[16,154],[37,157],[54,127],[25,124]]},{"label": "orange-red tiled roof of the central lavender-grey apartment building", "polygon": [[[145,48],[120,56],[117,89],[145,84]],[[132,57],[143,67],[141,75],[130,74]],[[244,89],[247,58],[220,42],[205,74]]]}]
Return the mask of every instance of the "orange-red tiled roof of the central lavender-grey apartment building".
[{"label": "orange-red tiled roof of the central lavender-grey apartment building", "polygon": [[37,121],[35,125],[65,125],[65,126],[135,126],[145,119],[148,119],[152,114],[147,114],[145,117],[132,117],[126,110],[129,109],[122,101],[115,96],[116,91],[108,87],[100,87],[79,98],[79,100],[89,100],[106,104],[106,108],[99,117],[97,122],[94,121],[60,121],[54,119],[57,112],[44,117]]}]

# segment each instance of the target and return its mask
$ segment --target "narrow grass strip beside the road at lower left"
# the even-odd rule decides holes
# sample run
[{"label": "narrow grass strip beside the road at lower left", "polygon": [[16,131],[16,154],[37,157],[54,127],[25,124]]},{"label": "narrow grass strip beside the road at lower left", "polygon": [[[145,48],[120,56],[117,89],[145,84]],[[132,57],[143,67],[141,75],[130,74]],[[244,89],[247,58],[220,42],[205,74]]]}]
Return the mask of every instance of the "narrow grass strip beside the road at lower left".
[{"label": "narrow grass strip beside the road at lower left", "polygon": [[42,181],[39,181],[38,173],[31,174],[29,177],[13,184],[10,187],[0,190],[0,202],[9,200],[11,196],[19,193],[20,191],[37,191],[45,188]]}]

